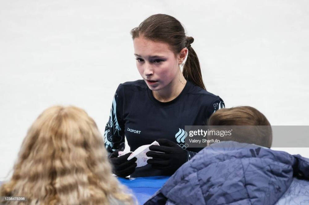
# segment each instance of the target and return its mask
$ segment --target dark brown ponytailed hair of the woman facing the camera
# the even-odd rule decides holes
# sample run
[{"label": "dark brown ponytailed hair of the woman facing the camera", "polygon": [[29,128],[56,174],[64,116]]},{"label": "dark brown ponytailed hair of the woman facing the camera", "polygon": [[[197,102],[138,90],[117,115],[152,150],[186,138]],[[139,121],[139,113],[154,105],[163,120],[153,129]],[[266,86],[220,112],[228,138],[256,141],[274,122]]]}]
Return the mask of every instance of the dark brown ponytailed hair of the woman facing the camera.
[{"label": "dark brown ponytailed hair of the woman facing the camera", "polygon": [[200,62],[190,45],[194,39],[185,35],[184,27],[176,18],[167,14],[154,14],[146,18],[138,27],[133,28],[130,33],[132,39],[142,36],[155,42],[168,43],[175,57],[184,47],[187,47],[188,57],[182,71],[184,78],[206,90]]}]

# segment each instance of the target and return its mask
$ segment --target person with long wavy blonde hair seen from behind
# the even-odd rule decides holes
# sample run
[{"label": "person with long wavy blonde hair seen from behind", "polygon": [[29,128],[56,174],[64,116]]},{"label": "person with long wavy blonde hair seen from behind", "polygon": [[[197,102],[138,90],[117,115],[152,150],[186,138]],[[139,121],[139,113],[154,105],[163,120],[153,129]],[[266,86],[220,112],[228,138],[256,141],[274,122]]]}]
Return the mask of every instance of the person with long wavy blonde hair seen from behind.
[{"label": "person with long wavy blonde hair seen from behind", "polygon": [[53,106],[39,115],[23,140],[5,204],[134,204],[112,175],[104,141],[83,109]]}]

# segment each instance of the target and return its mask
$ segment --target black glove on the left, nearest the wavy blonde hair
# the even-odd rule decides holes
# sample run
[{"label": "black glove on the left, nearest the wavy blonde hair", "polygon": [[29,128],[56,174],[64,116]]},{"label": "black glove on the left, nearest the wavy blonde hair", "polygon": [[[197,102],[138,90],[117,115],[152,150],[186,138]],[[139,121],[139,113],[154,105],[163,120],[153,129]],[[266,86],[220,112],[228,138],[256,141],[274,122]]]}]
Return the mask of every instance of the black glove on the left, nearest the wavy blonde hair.
[{"label": "black glove on the left, nearest the wavy blonde hair", "polygon": [[115,150],[112,154],[108,156],[113,166],[113,173],[120,177],[129,176],[135,171],[135,167],[137,166],[135,161],[137,160],[137,158],[134,157],[128,161],[128,157],[131,153],[118,157],[118,151],[121,150]]}]

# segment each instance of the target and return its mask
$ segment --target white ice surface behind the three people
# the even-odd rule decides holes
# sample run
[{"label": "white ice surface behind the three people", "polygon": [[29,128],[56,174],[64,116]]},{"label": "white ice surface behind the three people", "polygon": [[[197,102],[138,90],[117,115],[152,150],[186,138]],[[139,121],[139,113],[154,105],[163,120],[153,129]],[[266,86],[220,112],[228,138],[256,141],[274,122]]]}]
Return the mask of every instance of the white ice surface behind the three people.
[{"label": "white ice surface behind the three people", "polygon": [[[183,23],[207,90],[226,107],[253,106],[272,125],[309,125],[308,6],[306,0],[0,0],[0,180],[49,106],[81,107],[104,133],[117,86],[141,79],[129,32],[152,14]],[[309,157],[307,148],[285,150]]]}]

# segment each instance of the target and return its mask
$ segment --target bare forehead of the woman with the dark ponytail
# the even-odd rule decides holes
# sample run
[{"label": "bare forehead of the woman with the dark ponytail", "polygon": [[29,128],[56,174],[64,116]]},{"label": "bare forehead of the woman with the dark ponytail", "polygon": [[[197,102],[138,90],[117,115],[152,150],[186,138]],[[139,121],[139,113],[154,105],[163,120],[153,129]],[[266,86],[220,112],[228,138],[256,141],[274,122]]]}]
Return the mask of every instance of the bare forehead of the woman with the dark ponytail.
[{"label": "bare forehead of the woman with the dark ponytail", "polygon": [[165,42],[152,41],[142,37],[138,37],[133,40],[133,44],[134,54],[140,55],[142,57],[149,57],[154,55],[174,55],[173,52],[170,50],[169,45]]}]

